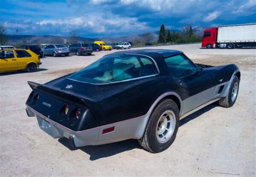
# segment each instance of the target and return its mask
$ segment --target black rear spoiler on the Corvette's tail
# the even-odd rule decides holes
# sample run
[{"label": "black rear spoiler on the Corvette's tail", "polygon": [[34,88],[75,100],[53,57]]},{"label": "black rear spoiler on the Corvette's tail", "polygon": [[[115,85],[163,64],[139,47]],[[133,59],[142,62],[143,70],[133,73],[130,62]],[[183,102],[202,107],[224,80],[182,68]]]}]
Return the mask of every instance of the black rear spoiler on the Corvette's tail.
[{"label": "black rear spoiler on the Corvette's tail", "polygon": [[86,106],[85,100],[82,98],[83,96],[80,96],[79,94],[60,90],[59,88],[52,87],[52,86],[46,86],[43,84],[34,83],[32,81],[28,81],[28,84],[33,91],[37,90],[40,92],[50,94],[51,96],[57,97],[62,100],[66,100],[75,104]]}]

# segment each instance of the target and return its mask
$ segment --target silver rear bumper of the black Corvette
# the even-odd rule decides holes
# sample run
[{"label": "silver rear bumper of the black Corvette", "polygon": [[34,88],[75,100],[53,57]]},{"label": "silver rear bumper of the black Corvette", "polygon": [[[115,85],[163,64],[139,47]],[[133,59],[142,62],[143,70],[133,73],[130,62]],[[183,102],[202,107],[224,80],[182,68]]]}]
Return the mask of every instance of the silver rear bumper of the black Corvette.
[{"label": "silver rear bumper of the black Corvette", "polygon": [[26,113],[29,117],[36,117],[41,130],[49,134],[52,138],[68,138],[70,140],[70,144],[75,147],[96,145],[100,131],[99,127],[75,132],[49,118],[44,117],[44,115],[36,112],[32,108],[27,107]]}]

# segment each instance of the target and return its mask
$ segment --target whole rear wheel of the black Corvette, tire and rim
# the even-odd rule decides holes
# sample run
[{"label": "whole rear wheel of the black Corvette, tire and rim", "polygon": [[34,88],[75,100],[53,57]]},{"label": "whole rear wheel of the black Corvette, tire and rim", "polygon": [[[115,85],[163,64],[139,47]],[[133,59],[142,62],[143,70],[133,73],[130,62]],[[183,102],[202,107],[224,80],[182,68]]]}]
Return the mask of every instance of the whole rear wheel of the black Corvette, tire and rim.
[{"label": "whole rear wheel of the black Corvette, tire and rim", "polygon": [[179,127],[179,108],[171,99],[163,100],[153,111],[139,144],[152,153],[171,146]]}]

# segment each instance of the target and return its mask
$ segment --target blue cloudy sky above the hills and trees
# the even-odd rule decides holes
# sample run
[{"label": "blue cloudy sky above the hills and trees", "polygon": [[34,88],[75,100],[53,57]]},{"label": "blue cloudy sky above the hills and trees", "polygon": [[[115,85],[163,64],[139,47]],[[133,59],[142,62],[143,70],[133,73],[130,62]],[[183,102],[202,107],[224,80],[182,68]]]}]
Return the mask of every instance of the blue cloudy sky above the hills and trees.
[{"label": "blue cloudy sky above the hills and trees", "polygon": [[[0,23],[9,34],[125,36],[193,26],[256,22],[256,0],[1,0]],[[17,32],[18,30],[18,32]]]}]

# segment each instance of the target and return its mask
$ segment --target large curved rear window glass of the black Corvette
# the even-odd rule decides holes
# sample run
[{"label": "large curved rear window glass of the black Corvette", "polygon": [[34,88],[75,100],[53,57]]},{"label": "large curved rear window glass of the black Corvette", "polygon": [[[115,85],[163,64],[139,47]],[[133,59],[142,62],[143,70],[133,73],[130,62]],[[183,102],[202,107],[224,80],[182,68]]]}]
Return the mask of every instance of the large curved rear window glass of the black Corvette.
[{"label": "large curved rear window glass of the black Corvette", "polygon": [[69,79],[92,84],[105,84],[115,81],[155,76],[156,65],[148,57],[137,55],[108,55],[84,69],[73,73]]}]

